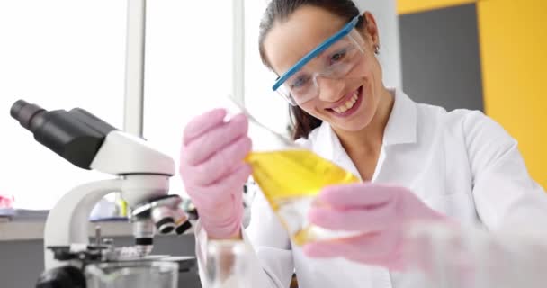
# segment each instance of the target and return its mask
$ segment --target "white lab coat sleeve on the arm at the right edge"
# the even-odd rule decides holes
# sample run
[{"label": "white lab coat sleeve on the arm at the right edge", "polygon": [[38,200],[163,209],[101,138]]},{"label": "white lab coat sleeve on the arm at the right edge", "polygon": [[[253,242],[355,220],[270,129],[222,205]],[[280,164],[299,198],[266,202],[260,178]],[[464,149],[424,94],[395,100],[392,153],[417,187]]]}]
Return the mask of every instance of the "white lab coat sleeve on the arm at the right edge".
[{"label": "white lab coat sleeve on the arm at the right edge", "polygon": [[467,116],[463,130],[482,223],[491,230],[546,229],[547,195],[528,174],[516,140],[482,112]]}]

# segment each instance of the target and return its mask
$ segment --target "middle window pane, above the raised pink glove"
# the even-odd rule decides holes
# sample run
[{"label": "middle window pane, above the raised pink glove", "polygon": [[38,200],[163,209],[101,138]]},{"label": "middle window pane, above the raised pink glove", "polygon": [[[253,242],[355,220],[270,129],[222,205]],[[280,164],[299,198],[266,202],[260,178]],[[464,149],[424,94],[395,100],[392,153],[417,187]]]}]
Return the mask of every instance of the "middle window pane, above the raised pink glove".
[{"label": "middle window pane, above the raised pink glove", "polygon": [[[232,3],[148,1],[147,9],[143,134],[178,166],[185,124],[231,93]],[[179,175],[170,184],[185,194]]]}]

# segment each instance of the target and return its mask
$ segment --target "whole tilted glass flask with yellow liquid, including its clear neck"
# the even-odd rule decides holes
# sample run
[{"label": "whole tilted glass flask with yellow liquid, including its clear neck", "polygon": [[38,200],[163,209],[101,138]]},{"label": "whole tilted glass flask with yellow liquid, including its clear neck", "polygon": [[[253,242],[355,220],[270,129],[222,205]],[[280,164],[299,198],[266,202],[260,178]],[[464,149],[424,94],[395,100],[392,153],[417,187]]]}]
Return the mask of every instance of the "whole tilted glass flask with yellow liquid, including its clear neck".
[{"label": "whole tilted glass flask with yellow liquid, including its clear neck", "polygon": [[239,112],[247,114],[253,151],[246,161],[282,225],[296,245],[312,241],[354,236],[354,231],[333,231],[309,224],[307,214],[321,189],[333,184],[351,184],[359,178],[268,129],[232,98]]}]

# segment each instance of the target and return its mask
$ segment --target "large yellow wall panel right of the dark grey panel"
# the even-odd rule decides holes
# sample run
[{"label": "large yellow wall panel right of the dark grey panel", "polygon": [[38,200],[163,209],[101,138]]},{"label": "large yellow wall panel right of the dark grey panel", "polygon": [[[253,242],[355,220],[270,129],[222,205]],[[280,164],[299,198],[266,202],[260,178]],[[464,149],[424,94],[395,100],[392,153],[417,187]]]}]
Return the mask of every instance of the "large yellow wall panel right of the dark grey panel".
[{"label": "large yellow wall panel right of the dark grey panel", "polygon": [[485,110],[547,188],[547,1],[478,2]]}]

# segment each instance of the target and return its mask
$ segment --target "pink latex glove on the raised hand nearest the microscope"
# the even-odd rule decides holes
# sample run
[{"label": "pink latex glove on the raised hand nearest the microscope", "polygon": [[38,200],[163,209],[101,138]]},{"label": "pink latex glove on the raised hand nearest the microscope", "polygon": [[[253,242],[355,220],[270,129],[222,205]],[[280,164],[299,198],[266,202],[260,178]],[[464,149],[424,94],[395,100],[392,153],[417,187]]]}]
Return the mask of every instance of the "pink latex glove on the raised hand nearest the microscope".
[{"label": "pink latex glove on the raised hand nearest the microscope", "polygon": [[225,122],[216,109],[193,119],[184,130],[180,174],[210,238],[233,238],[243,219],[243,185],[251,167],[248,121],[243,114]]}]

